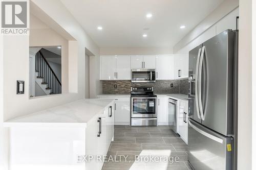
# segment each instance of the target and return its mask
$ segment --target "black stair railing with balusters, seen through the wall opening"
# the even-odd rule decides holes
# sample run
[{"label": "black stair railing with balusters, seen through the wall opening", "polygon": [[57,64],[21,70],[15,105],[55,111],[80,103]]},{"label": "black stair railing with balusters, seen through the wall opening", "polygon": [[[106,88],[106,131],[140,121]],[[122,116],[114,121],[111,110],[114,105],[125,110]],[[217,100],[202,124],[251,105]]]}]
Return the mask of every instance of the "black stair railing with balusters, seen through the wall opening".
[{"label": "black stair railing with balusters, seen through the wall opening", "polygon": [[61,83],[40,51],[35,55],[35,71],[38,72],[37,78],[42,79],[42,84],[47,85],[46,89],[51,90],[50,94],[61,93]]}]

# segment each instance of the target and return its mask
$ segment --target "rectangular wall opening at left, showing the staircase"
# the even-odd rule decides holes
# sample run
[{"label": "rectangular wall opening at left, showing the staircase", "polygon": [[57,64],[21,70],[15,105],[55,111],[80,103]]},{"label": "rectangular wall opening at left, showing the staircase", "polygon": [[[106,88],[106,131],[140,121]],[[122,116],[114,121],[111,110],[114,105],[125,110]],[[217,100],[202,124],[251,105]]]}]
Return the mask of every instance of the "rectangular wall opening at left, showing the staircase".
[{"label": "rectangular wall opening at left, showing the staircase", "polygon": [[61,46],[29,48],[29,96],[61,93]]}]

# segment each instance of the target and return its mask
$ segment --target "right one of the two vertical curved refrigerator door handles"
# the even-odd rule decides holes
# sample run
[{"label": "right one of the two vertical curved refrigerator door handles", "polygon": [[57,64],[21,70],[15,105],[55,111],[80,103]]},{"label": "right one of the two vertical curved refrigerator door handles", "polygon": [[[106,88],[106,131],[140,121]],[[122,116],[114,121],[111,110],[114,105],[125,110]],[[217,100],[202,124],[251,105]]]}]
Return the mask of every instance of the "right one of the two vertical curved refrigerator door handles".
[{"label": "right one of the two vertical curved refrigerator door handles", "polygon": [[202,47],[201,57],[199,61],[199,70],[198,70],[198,103],[201,119],[204,120],[203,106],[202,106],[202,69],[203,69],[203,58],[204,58],[205,46]]}]

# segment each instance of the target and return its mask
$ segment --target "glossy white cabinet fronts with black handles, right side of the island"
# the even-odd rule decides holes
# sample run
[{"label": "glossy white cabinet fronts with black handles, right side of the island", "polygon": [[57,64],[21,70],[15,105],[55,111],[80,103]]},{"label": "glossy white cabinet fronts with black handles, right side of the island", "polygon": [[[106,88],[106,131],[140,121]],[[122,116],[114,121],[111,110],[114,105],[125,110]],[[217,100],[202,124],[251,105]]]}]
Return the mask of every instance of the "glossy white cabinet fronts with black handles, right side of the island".
[{"label": "glossy white cabinet fronts with black handles, right side of the island", "polygon": [[[112,114],[111,114],[112,112]],[[86,162],[86,169],[102,169],[103,161],[97,161],[97,155],[107,154],[111,140],[114,137],[113,104],[105,108],[104,113],[95,116],[86,128],[86,155],[93,155],[90,162]]]}]

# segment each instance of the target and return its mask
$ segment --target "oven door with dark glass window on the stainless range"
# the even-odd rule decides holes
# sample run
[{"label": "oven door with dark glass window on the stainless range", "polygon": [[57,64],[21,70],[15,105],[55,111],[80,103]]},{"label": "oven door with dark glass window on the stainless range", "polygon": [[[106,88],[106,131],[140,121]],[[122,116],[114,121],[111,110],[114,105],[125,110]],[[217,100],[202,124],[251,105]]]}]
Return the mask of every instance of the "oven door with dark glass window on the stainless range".
[{"label": "oven door with dark glass window on the stainless range", "polygon": [[131,117],[157,117],[157,98],[131,98]]}]

